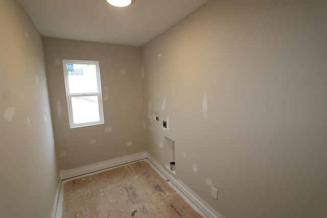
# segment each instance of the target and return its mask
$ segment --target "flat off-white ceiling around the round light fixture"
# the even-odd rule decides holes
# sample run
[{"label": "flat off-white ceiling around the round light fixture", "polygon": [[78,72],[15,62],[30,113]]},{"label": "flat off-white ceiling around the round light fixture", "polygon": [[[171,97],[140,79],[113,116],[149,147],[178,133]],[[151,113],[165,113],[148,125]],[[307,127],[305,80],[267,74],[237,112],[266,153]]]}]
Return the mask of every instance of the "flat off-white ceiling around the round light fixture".
[{"label": "flat off-white ceiling around the round light fixture", "polygon": [[209,0],[18,0],[43,37],[142,46]]}]

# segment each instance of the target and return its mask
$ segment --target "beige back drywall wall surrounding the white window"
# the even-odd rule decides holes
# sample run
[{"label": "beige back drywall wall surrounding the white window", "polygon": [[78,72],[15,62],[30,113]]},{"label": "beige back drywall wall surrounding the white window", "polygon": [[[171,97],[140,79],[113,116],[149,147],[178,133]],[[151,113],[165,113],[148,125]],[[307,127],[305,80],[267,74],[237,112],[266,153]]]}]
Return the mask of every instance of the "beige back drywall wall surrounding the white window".
[{"label": "beige back drywall wall surrounding the white window", "polygon": [[[144,152],[141,48],[43,38],[60,169]],[[62,60],[100,62],[104,124],[69,128]]]}]

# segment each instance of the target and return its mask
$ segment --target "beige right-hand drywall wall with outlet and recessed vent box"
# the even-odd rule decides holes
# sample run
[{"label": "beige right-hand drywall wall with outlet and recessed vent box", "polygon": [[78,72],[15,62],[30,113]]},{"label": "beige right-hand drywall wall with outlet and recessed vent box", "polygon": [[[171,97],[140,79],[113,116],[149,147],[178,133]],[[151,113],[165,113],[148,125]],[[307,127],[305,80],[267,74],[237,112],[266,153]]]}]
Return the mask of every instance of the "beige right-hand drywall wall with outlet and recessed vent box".
[{"label": "beige right-hand drywall wall with outlet and recessed vent box", "polygon": [[225,218],[327,216],[326,8],[213,0],[142,48],[147,151],[164,165],[174,140],[176,178]]}]

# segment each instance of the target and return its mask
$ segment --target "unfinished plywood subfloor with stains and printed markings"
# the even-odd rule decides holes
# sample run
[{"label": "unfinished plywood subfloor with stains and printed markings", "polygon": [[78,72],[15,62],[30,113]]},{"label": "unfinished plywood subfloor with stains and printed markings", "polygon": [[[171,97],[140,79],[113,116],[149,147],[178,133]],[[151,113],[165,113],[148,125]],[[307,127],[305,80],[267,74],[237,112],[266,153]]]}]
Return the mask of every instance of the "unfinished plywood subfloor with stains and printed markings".
[{"label": "unfinished plywood subfloor with stains and printed markings", "polygon": [[206,217],[147,161],[62,183],[56,218]]}]

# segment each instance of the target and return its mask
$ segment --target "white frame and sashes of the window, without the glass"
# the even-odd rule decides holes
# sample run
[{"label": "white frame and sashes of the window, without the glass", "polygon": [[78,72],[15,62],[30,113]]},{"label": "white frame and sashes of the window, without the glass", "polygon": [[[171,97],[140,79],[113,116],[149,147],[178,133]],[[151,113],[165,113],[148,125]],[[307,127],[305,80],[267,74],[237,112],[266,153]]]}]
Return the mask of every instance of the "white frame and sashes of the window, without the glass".
[{"label": "white frame and sashes of the window, without the glass", "polygon": [[[71,128],[76,128],[76,127],[86,127],[86,126],[93,126],[93,125],[104,124],[99,61],[62,60],[62,64],[63,64],[64,79],[65,79],[66,99],[67,99],[68,117],[69,117],[69,125],[70,125],[70,127]],[[98,91],[97,92],[86,92],[86,93],[69,93],[67,64],[96,65]],[[84,97],[85,96],[98,96],[99,118],[100,118],[99,121],[97,121],[97,122],[88,122],[88,123],[81,123],[81,124],[74,124],[72,98],[74,98],[74,97],[80,97],[80,96],[84,96]]]}]

